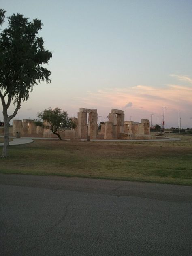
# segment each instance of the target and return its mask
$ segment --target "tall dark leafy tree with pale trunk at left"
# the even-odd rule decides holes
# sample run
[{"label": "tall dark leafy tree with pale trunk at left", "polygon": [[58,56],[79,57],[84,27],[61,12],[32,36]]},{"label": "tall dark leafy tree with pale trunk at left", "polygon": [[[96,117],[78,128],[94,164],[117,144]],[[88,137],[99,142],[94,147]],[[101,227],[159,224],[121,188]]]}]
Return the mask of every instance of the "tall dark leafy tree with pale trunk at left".
[{"label": "tall dark leafy tree with pale trunk at left", "polygon": [[[5,17],[0,9],[0,25]],[[2,157],[8,156],[9,122],[21,107],[21,101],[27,101],[29,92],[40,81],[51,82],[51,72],[42,64],[48,64],[51,52],[45,50],[43,38],[38,37],[42,23],[38,19],[32,22],[23,15],[8,17],[8,28],[0,33],[0,98],[4,117],[4,147]],[[11,102],[15,109],[8,115]]]}]

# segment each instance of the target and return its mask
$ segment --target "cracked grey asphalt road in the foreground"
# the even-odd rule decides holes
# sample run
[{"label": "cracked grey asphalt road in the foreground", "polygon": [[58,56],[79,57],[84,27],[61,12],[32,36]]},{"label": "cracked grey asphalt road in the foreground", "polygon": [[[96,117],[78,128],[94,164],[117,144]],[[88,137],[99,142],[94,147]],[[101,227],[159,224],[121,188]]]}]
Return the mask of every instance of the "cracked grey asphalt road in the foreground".
[{"label": "cracked grey asphalt road in the foreground", "polygon": [[0,175],[2,256],[191,256],[192,187]]}]

